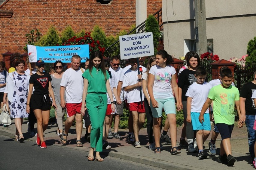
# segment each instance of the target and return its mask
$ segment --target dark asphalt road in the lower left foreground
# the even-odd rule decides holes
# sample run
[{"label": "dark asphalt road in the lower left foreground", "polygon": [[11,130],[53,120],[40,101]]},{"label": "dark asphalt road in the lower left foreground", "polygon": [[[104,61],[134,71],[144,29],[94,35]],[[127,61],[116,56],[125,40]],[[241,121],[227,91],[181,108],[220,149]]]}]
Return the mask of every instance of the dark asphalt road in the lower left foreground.
[{"label": "dark asphalt road in the lower left foreground", "polygon": [[19,170],[63,170],[63,169],[104,169],[104,170],[127,170],[127,169],[147,169],[162,170],[160,168],[143,165],[119,158],[105,157],[104,162],[89,162],[88,152],[65,148],[56,145],[47,146],[41,149],[35,145],[34,141],[25,140],[20,143],[8,136],[0,135],[0,169]]}]

